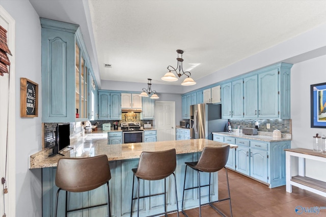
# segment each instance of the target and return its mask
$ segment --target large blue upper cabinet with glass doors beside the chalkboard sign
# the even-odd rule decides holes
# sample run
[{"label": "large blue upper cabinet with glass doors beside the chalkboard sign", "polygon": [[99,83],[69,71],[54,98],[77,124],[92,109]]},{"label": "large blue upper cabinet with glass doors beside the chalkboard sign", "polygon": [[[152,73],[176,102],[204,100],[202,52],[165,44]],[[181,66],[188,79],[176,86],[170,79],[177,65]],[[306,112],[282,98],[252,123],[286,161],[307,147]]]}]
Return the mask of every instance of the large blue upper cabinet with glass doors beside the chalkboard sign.
[{"label": "large blue upper cabinet with glass doors beside the chalkboard sign", "polygon": [[42,122],[88,120],[88,79],[93,72],[79,25],[40,20]]}]

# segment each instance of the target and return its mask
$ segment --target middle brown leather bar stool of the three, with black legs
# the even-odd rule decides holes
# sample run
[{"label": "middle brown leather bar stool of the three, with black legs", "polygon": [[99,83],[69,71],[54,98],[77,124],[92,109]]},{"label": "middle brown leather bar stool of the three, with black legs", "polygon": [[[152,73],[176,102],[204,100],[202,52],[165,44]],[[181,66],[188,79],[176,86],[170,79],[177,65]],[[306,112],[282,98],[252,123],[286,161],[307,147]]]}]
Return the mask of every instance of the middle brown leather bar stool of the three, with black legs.
[{"label": "middle brown leather bar stool of the three, with black legs", "polygon": [[[143,151],[141,153],[138,168],[132,169],[133,179],[132,179],[130,217],[132,216],[132,201],[133,200],[137,199],[137,216],[139,216],[139,199],[146,198],[146,197],[152,197],[152,196],[158,196],[158,195],[164,195],[164,212],[154,214],[151,216],[156,216],[156,215],[161,215],[161,214],[165,214],[165,216],[167,216],[167,213],[177,211],[177,215],[179,217],[177,183],[176,183],[176,178],[175,178],[175,174],[174,174],[176,166],[177,166],[177,161],[176,161],[175,149],[170,149],[170,150],[166,150],[166,151],[156,151],[156,152]],[[174,176],[175,197],[176,197],[177,209],[167,211],[166,178],[169,177],[171,174],[173,174],[173,176]],[[138,185],[137,185],[138,194],[137,194],[137,197],[135,197],[135,198],[133,198],[134,177],[137,177],[137,180],[138,180]],[[140,179],[149,180],[149,181],[164,179],[164,193],[158,193],[158,194],[153,194],[153,195],[149,194],[147,196],[140,197],[140,195],[139,195]]]}]

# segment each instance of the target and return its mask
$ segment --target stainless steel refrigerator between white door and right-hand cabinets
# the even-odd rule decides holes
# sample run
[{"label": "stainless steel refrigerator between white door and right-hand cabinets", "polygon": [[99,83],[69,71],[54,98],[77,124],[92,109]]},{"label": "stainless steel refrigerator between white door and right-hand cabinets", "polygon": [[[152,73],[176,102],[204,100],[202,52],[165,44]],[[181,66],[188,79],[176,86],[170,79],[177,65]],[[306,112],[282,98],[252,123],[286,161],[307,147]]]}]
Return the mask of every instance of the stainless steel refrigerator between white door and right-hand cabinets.
[{"label": "stainless steel refrigerator between white door and right-hand cabinets", "polygon": [[190,138],[213,140],[212,132],[225,132],[228,120],[221,119],[221,104],[190,106]]}]

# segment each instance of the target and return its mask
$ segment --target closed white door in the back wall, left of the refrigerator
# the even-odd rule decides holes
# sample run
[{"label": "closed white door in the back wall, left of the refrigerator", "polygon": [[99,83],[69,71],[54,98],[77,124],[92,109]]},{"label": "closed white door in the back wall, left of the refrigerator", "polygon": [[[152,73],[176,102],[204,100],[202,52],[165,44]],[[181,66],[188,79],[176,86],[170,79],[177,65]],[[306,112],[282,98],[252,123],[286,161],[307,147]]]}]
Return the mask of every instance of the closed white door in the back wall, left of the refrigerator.
[{"label": "closed white door in the back wall, left of the refrigerator", "polygon": [[175,102],[155,101],[157,141],[175,140]]}]

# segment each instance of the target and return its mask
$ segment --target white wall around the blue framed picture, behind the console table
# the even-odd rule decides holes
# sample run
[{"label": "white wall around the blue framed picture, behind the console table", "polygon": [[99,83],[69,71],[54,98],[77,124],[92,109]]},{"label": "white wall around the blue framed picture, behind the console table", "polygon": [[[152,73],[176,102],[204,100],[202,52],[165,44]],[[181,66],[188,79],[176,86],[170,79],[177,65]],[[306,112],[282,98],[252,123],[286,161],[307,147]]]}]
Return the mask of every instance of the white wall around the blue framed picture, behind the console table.
[{"label": "white wall around the blue framed picture, behind the console table", "polygon": [[[310,128],[310,85],[326,82],[326,55],[293,65],[291,69],[292,148],[312,149],[312,137],[325,128]],[[296,165],[293,165],[296,169]],[[326,163],[306,161],[306,176],[326,181]]]}]

